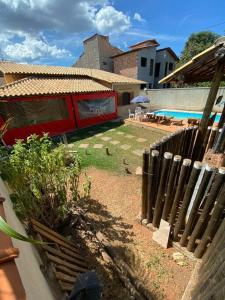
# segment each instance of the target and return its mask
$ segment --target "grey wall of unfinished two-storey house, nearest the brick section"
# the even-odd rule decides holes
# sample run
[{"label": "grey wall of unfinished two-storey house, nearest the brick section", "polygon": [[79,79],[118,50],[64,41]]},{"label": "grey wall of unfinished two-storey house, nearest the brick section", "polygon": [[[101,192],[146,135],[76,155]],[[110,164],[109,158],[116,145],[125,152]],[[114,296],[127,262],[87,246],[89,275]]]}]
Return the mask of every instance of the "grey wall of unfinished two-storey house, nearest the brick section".
[{"label": "grey wall of unfinished two-storey house, nearest the brick section", "polygon": [[[147,82],[147,88],[149,84],[153,88],[154,84],[154,73],[155,73],[155,55],[156,55],[156,47],[149,47],[146,49],[141,49],[138,51],[138,75],[137,79],[143,80]],[[141,66],[141,57],[147,58],[147,65],[146,67]],[[153,59],[153,73],[150,76],[150,60]]]}]

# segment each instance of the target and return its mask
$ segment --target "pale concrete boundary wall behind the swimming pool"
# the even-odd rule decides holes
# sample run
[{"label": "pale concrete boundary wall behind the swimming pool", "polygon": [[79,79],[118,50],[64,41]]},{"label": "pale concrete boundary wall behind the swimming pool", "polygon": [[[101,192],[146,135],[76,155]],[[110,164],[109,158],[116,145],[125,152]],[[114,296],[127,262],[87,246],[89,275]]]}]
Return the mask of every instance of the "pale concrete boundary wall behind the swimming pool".
[{"label": "pale concrete boundary wall behind the swimming pool", "polygon": [[[150,98],[151,109],[181,109],[189,111],[203,111],[209,88],[170,88],[147,90]],[[145,95],[144,91],[141,91]],[[218,91],[218,95],[224,95],[225,88]],[[222,107],[214,106],[215,112],[221,112]]]}]

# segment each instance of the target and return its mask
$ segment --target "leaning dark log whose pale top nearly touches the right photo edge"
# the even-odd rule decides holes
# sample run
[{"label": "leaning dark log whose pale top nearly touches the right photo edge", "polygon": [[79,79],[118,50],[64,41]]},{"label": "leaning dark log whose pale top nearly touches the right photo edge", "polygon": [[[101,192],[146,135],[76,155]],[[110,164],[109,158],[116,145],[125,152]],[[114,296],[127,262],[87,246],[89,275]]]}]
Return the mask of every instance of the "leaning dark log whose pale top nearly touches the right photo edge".
[{"label": "leaning dark log whose pale top nearly touches the right photo edge", "polygon": [[188,241],[188,245],[187,245],[188,251],[193,251],[194,246],[195,246],[195,241],[199,237],[204,225],[208,221],[209,213],[212,209],[215,199],[216,199],[217,195],[219,194],[219,191],[220,191],[222,185],[224,184],[224,182],[225,182],[225,168],[220,168],[218,174],[216,175],[216,177],[214,179],[214,183],[211,187],[208,199],[205,202],[202,213],[200,214],[198,222],[195,225],[195,228],[194,228],[194,230],[190,236],[190,239]]}]

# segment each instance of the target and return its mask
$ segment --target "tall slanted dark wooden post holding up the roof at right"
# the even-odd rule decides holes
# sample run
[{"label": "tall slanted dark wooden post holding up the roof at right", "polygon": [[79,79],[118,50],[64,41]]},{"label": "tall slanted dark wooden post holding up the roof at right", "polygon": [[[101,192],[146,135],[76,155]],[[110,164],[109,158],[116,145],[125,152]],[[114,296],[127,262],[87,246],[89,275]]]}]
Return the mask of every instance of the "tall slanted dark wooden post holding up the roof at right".
[{"label": "tall slanted dark wooden post holding up the roof at right", "polygon": [[217,93],[218,93],[220,82],[221,82],[221,80],[223,78],[223,75],[224,75],[224,66],[225,66],[225,59],[217,61],[216,70],[215,70],[215,73],[213,75],[209,95],[208,95],[206,105],[205,105],[205,108],[204,108],[204,111],[203,111],[203,116],[202,116],[202,119],[201,119],[201,123],[199,125],[198,137],[197,137],[197,142],[196,142],[196,147],[195,147],[195,154],[196,155],[199,152],[201,153],[201,148],[202,148],[202,144],[203,144],[203,141],[204,141],[204,136],[205,136],[205,133],[206,133],[206,130],[207,130],[207,127],[208,127],[210,114],[212,112],[212,108],[213,108],[214,102],[216,100],[216,96],[217,96]]}]

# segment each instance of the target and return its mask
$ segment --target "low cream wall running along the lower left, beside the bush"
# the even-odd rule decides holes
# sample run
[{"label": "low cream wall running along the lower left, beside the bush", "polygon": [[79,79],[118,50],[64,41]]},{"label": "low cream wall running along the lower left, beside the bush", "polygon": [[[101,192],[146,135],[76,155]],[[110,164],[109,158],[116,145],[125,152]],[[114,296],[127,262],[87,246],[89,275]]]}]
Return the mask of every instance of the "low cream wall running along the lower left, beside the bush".
[{"label": "low cream wall running along the lower left, beside the bush", "polygon": [[[0,195],[6,200],[3,203],[6,220],[9,225],[27,236],[23,225],[16,217],[9,198],[9,190],[0,178]],[[15,259],[28,300],[54,300],[48,282],[40,270],[41,260],[33,245],[12,239],[13,246],[19,248],[19,257]]]}]

